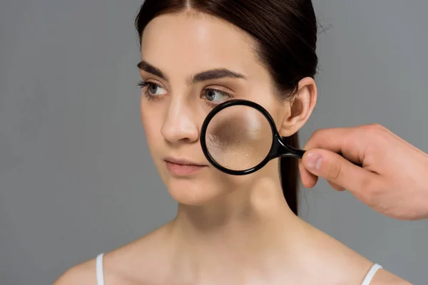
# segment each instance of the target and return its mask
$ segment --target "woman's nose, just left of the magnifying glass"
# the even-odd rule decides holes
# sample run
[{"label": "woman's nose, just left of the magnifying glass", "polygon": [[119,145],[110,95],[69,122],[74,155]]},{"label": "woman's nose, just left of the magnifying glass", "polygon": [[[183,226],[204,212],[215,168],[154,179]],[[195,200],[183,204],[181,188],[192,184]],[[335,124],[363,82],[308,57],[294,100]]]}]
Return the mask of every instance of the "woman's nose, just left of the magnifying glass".
[{"label": "woman's nose, just left of the magnifying glass", "polygon": [[190,106],[184,102],[171,101],[161,133],[171,143],[197,141],[199,130]]}]

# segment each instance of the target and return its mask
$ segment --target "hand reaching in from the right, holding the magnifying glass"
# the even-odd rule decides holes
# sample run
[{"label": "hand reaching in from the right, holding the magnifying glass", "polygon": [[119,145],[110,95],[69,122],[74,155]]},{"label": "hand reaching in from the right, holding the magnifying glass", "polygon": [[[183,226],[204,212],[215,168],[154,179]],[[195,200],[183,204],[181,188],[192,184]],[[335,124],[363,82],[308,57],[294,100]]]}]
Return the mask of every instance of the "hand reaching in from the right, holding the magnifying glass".
[{"label": "hand reaching in from the right, holding the magnifying glass", "polygon": [[428,219],[428,155],[382,125],[318,130],[305,150],[305,187],[322,177],[389,217]]}]

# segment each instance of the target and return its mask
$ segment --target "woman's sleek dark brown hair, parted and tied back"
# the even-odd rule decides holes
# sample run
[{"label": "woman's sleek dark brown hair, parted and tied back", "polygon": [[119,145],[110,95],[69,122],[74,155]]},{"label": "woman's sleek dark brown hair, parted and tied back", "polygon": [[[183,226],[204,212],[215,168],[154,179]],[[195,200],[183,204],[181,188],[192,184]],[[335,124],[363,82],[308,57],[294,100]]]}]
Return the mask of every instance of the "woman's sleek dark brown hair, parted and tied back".
[{"label": "woman's sleek dark brown hair, parted and tied back", "polygon": [[[317,20],[311,0],[146,0],[135,21],[140,42],[144,28],[156,16],[189,8],[217,16],[250,34],[280,98],[293,95],[302,78],[315,76]],[[297,133],[284,139],[299,147]],[[280,172],[285,199],[297,214],[297,160],[281,158]]]}]

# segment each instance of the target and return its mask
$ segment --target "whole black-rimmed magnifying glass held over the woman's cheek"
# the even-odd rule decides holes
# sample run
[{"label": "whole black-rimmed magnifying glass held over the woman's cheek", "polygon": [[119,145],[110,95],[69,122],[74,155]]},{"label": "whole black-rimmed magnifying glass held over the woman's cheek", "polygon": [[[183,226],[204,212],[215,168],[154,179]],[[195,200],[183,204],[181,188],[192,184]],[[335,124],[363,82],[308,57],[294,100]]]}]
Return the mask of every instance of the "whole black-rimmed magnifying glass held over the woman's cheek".
[{"label": "whole black-rimmed magnifying glass held over the woman's cheek", "polygon": [[276,157],[302,158],[287,145],[270,114],[249,100],[228,100],[205,118],[200,144],[211,165],[230,175],[248,175]]}]

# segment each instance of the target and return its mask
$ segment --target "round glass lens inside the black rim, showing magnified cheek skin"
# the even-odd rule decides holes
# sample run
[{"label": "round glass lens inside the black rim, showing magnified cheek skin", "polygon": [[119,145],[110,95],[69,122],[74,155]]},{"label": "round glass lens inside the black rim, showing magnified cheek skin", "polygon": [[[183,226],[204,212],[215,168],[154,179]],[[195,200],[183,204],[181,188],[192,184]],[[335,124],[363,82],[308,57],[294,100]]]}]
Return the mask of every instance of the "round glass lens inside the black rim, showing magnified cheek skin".
[{"label": "round glass lens inside the black rim, showing magnified cheek skin", "polygon": [[205,143],[210,157],[229,170],[250,170],[263,162],[272,147],[272,129],[259,110],[231,105],[210,120]]}]

